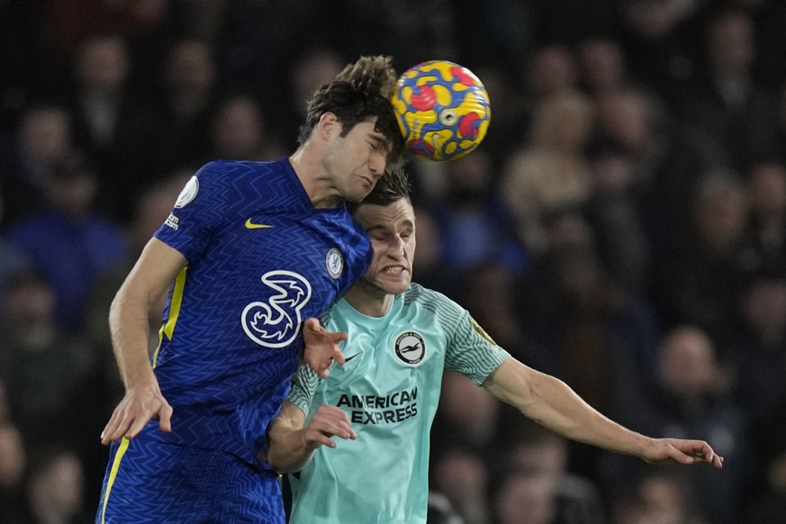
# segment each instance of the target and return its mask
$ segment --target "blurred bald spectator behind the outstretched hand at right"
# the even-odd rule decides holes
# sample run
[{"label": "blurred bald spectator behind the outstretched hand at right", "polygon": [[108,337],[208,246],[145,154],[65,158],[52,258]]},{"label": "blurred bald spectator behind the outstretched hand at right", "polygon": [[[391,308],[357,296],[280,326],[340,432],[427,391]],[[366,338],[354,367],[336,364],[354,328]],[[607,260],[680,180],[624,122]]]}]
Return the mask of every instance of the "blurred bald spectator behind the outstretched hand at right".
[{"label": "blurred bald spectator behind the outstretched hand at right", "polygon": [[[621,419],[641,433],[673,438],[698,435],[717,443],[727,457],[724,474],[684,473],[695,492],[693,500],[712,524],[738,522],[740,501],[754,472],[751,420],[732,396],[732,378],[727,360],[718,356],[707,332],[687,324],[675,327],[664,334],[659,348],[657,384],[638,402],[638,411]],[[607,495],[646,473],[626,456],[603,456],[599,471]]]}]

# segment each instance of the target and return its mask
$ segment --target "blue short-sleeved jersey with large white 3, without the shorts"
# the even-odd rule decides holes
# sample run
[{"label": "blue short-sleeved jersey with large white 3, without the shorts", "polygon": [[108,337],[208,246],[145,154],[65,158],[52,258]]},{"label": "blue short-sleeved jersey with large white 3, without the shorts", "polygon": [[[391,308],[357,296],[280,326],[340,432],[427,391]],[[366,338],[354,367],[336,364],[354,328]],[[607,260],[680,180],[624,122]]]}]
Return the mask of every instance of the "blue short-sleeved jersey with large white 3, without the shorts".
[{"label": "blue short-sleeved jersey with large white 3, without the shorts", "polygon": [[315,209],[288,158],[202,167],[156,237],[187,259],[153,365],[181,445],[254,461],[288,391],[302,324],[365,271],[366,233],[341,205]]}]

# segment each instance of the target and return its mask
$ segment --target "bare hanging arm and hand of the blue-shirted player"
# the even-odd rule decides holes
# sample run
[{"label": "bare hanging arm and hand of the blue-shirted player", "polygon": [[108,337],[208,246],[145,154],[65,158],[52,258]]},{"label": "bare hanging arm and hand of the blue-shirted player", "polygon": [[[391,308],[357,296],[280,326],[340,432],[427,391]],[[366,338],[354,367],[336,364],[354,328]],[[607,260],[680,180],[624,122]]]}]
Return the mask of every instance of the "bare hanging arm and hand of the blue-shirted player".
[{"label": "bare hanging arm and hand of the blue-shirted player", "polygon": [[149,357],[149,310],[167,291],[185,257],[158,239],[150,239],[114,297],[109,312],[114,356],[125,395],[101,433],[101,442],[133,438],[158,416],[169,431],[172,407],[161,394]]}]

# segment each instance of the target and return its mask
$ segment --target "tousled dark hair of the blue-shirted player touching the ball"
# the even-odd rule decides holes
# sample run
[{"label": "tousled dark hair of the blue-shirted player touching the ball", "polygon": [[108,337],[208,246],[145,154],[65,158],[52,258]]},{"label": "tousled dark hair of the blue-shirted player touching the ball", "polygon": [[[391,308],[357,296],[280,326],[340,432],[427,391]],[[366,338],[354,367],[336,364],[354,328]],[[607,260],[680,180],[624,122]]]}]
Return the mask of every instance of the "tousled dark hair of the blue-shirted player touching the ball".
[{"label": "tousled dark hair of the blue-shirted player touching the ball", "polygon": [[390,148],[388,163],[397,164],[402,158],[404,139],[393,113],[391,95],[397,80],[392,57],[360,57],[348,64],[330,82],[312,95],[306,108],[306,119],[300,128],[298,143],[303,145],[324,113],[333,113],[346,136],[360,122],[376,118],[375,131],[384,135]]}]

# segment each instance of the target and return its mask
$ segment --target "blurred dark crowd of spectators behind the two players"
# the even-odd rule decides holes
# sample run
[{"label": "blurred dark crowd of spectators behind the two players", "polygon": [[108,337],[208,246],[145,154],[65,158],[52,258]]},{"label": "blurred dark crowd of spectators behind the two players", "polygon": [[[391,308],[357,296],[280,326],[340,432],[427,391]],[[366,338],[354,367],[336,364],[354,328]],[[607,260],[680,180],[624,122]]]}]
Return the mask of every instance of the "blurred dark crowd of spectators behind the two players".
[{"label": "blurred dark crowd of spectators behind the two players", "polygon": [[612,419],[726,457],[567,442],[447,373],[435,497],[466,524],[782,523],[784,28],[778,0],[0,0],[0,521],[93,518],[109,303],[188,177],[291,153],[305,98],[389,54],[492,101],[473,153],[409,163],[414,279]]}]

